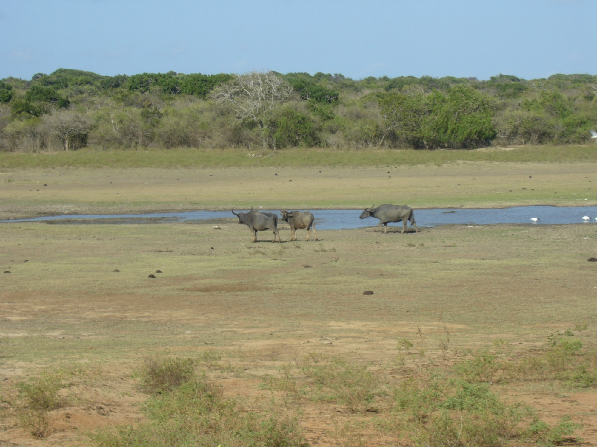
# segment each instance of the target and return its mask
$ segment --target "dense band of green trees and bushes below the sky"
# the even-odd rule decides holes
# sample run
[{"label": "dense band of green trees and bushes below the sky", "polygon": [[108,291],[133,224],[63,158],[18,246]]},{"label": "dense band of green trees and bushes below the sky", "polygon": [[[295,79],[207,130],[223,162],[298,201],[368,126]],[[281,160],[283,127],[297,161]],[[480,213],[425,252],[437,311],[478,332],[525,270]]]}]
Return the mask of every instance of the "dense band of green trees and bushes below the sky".
[{"label": "dense band of green trees and bushes below the sky", "polygon": [[0,80],[0,150],[475,148],[567,144],[597,128],[597,76],[525,80],[252,72]]}]

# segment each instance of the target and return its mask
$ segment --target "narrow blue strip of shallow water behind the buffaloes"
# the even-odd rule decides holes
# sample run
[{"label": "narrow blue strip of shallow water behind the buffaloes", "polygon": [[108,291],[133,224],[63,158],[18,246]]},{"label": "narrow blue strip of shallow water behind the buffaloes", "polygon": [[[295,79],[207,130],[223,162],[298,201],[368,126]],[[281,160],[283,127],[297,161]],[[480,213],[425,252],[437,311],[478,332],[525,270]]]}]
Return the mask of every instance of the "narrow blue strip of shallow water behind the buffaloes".
[{"label": "narrow blue strip of shallow water behind the buffaloes", "polygon": [[[244,210],[246,211],[246,210]],[[262,210],[266,211],[266,210]],[[279,214],[278,210],[269,212]],[[313,210],[315,225],[318,229],[362,228],[374,226],[379,222],[375,218],[359,219],[362,210]],[[597,228],[597,206],[559,207],[559,206],[515,206],[512,208],[483,208],[483,209],[416,209],[414,210],[417,226],[438,226],[450,224],[485,225],[485,224],[578,224],[584,216],[589,216],[587,225]],[[111,214],[111,215],[64,215],[45,216],[33,219],[13,219],[0,222],[35,222],[35,221],[64,221],[89,219],[88,223],[100,223],[97,219],[112,219],[114,224],[138,224],[161,222],[192,222],[214,219],[236,219],[230,211],[192,211],[180,213],[147,213],[147,214]],[[537,224],[531,218],[541,219]],[[64,222],[67,223],[67,222]],[[73,222],[75,223],[75,222]],[[402,226],[399,224],[389,224]]]}]

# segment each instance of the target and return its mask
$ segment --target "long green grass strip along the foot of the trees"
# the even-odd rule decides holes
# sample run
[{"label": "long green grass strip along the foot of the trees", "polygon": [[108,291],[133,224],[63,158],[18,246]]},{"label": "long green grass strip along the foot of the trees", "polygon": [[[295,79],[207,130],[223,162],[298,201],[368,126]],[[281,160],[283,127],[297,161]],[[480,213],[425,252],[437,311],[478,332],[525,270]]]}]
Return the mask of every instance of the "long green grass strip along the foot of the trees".
[{"label": "long green grass strip along the foot of the trees", "polygon": [[595,161],[590,145],[522,146],[509,150],[331,150],[290,148],[248,153],[239,149],[196,148],[96,150],[74,152],[0,153],[0,167],[265,167],[265,166],[442,166],[457,162],[583,162]]}]

